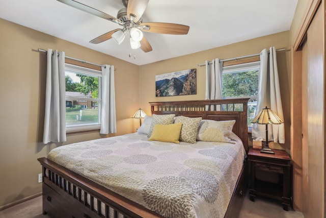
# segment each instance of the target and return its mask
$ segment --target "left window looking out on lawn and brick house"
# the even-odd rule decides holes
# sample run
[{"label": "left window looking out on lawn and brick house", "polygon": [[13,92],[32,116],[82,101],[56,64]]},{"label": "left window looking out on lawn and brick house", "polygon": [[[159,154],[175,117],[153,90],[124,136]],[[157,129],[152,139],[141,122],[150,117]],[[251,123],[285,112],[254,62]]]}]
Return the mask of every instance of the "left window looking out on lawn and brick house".
[{"label": "left window looking out on lawn and brick house", "polygon": [[101,71],[65,64],[67,132],[100,128]]}]

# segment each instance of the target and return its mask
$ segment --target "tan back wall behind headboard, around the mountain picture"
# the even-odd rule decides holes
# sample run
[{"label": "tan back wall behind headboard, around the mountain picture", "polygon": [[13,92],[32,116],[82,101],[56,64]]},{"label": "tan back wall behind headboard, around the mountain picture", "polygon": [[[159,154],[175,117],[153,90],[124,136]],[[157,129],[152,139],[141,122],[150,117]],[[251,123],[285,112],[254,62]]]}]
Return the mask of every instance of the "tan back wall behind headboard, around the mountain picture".
[{"label": "tan back wall behind headboard, around the mountain picture", "polygon": [[[191,45],[189,45],[191,46]],[[245,55],[260,53],[263,49],[269,49],[275,46],[276,49],[290,49],[289,31],[268,35],[252,40],[242,41],[215,49],[206,50],[190,55],[185,55],[173,59],[159,61],[147,65],[140,66],[140,106],[147,114],[150,114],[150,106],[148,102],[165,102],[165,101],[181,101],[181,100],[204,100],[205,99],[205,66],[197,66],[205,63],[205,60],[213,60],[214,58],[228,59]],[[285,144],[280,147],[279,144],[271,144],[271,148],[290,149],[290,54],[289,52],[278,52],[278,70],[280,77],[280,88],[282,97],[282,106],[285,119]],[[184,69],[197,68],[197,94],[156,97],[155,96],[155,75],[166,74]]]}]

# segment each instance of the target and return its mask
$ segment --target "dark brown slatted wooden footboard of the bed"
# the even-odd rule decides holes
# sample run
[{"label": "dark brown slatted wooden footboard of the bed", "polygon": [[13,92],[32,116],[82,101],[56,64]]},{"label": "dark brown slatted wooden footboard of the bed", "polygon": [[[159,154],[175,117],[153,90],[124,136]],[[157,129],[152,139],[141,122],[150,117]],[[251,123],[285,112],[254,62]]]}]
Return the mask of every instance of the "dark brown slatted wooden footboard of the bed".
[{"label": "dark brown slatted wooden footboard of the bed", "polygon": [[47,158],[43,172],[43,213],[55,217],[162,217]]}]

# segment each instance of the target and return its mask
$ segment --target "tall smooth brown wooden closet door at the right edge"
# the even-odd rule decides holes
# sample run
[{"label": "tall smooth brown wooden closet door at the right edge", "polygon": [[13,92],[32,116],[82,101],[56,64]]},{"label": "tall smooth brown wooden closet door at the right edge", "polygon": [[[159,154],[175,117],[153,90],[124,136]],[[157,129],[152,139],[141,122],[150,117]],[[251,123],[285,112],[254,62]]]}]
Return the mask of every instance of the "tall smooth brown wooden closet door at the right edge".
[{"label": "tall smooth brown wooden closet door at the right edge", "polygon": [[302,50],[303,213],[324,217],[324,15],[319,6]]}]

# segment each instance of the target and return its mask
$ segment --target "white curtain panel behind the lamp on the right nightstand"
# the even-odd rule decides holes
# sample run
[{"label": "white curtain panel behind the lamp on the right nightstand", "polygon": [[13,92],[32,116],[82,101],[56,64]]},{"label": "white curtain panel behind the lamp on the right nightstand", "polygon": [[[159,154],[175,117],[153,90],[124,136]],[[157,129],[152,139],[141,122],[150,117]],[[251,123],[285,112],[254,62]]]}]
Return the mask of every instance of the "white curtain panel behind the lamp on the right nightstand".
[{"label": "white curtain panel behind the lamp on the right nightstand", "polygon": [[[269,74],[267,72],[268,65]],[[266,49],[264,49],[260,54],[260,71],[258,86],[258,99],[255,115],[257,115],[262,108],[265,108],[267,106],[268,108],[276,112],[276,114],[282,120],[284,120],[275,47],[270,47],[269,49],[269,62]],[[265,138],[266,126],[254,124],[252,130],[252,137]],[[268,140],[274,140],[274,142],[285,143],[284,124],[268,125]]]}]

